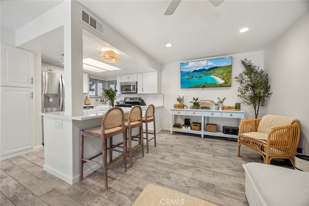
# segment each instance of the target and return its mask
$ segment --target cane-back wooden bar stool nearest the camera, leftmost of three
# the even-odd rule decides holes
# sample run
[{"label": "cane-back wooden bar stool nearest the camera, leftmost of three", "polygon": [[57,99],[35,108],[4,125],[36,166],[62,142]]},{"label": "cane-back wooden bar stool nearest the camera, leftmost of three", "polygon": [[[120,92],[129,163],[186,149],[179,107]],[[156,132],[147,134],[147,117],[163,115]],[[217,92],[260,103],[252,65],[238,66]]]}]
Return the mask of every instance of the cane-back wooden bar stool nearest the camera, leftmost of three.
[{"label": "cane-back wooden bar stool nearest the camera, leftmost of three", "polygon": [[[125,161],[125,172],[127,172],[127,159],[126,159],[126,149],[123,151],[108,148],[107,147],[107,139],[112,138],[117,134],[122,133],[123,138],[123,146],[126,146],[126,138],[125,138],[125,114],[123,110],[119,107],[113,107],[109,109],[106,114],[103,116],[102,125],[101,127],[95,127],[91,129],[81,130],[80,131],[80,180],[83,180],[83,164],[85,162],[91,162],[97,165],[103,166],[104,169],[104,180],[105,180],[105,190],[108,189],[108,182],[107,182],[107,170],[110,169],[112,166],[116,165],[121,160]],[[96,139],[101,139],[102,141],[102,153],[99,153],[89,159],[84,158],[84,136],[93,137]],[[120,152],[123,153],[123,157],[118,159],[116,162],[112,163],[110,166],[107,167],[107,149],[110,151]],[[100,155],[103,155],[103,164],[99,162],[95,162],[91,159],[96,158]],[[112,157],[110,158],[112,160]]]}]

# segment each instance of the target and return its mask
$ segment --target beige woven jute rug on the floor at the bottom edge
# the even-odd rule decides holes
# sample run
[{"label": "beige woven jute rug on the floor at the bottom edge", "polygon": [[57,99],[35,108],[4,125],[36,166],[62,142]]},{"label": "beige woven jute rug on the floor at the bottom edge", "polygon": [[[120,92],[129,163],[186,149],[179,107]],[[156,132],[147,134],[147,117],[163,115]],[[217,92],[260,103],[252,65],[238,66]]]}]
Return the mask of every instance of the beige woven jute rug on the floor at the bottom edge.
[{"label": "beige woven jute rug on the floor at the bottom edge", "polygon": [[217,206],[195,196],[166,187],[147,184],[133,206]]}]

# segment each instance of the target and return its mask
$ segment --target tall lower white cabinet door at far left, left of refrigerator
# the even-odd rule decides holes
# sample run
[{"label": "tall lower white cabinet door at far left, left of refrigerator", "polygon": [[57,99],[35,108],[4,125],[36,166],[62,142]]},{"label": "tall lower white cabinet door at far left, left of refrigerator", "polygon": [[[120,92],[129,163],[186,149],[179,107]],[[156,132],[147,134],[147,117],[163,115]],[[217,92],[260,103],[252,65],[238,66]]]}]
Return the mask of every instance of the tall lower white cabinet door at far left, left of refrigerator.
[{"label": "tall lower white cabinet door at far left, left of refrigerator", "polygon": [[33,89],[1,86],[0,155],[33,148]]}]

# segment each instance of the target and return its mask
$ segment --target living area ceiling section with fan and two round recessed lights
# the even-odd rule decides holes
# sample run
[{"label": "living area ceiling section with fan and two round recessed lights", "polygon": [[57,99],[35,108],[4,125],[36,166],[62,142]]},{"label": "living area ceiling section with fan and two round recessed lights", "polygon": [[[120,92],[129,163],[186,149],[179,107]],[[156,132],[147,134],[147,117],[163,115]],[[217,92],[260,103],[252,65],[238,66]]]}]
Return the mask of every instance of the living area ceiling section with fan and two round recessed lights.
[{"label": "living area ceiling section with fan and two round recessed lights", "polygon": [[308,1],[181,1],[165,16],[171,1],[78,2],[160,63],[264,50],[308,10]]}]

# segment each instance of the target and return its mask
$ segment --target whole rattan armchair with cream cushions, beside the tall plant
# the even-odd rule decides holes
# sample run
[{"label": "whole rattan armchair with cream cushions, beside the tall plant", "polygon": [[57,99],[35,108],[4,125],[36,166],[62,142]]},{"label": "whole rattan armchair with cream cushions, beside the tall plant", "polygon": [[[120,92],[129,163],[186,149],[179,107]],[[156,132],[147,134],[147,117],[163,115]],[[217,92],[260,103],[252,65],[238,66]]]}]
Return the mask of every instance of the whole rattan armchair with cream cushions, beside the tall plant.
[{"label": "whole rattan armchair with cream cushions, beside the tall plant", "polygon": [[[290,124],[281,125],[281,120],[290,121]],[[261,127],[268,129],[263,132]],[[269,165],[273,158],[285,158],[290,159],[294,166],[292,157],[296,152],[300,135],[297,119],[266,115],[262,119],[243,120],[239,125],[238,134],[237,156],[240,155],[240,145],[244,145],[261,154],[264,164]]]}]

